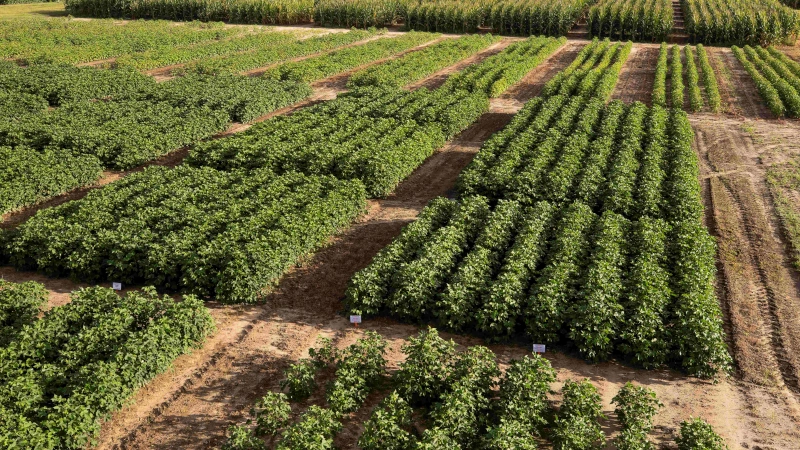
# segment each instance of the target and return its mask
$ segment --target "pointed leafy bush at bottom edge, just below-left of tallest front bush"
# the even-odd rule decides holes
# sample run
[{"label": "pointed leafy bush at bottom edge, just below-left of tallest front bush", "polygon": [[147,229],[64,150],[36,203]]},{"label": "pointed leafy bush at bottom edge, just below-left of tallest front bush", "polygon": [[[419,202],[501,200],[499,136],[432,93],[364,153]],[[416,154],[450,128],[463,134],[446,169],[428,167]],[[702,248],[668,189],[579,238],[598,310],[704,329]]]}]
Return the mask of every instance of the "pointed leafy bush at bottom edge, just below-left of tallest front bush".
[{"label": "pointed leafy bush at bottom edge, just below-left of tallest front bush", "polygon": [[381,401],[372,416],[364,424],[364,432],[358,438],[363,450],[410,450],[414,436],[406,431],[411,426],[411,407],[392,391]]}]

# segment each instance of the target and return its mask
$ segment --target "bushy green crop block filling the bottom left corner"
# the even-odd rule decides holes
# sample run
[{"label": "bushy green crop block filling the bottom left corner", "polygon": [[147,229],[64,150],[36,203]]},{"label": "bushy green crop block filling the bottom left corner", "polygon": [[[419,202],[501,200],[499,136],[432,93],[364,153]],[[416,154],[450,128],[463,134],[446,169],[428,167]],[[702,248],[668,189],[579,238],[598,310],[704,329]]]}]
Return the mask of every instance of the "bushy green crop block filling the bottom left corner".
[{"label": "bushy green crop block filling the bottom left corner", "polygon": [[3,448],[86,448],[103,418],[214,328],[197,298],[153,289],[82,289],[37,319],[45,301],[35,284],[0,289],[0,311],[20,314],[0,323]]}]

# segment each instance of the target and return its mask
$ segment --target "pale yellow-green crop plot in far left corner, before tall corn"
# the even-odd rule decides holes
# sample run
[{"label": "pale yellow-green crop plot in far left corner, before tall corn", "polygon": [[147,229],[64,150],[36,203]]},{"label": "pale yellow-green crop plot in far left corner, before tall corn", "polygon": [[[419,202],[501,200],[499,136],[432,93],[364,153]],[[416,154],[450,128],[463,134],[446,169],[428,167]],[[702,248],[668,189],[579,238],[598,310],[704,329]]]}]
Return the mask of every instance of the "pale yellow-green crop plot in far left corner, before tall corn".
[{"label": "pale yellow-green crop plot in far left corner, before tall corn", "polygon": [[150,49],[170,49],[212,42],[242,31],[221,23],[113,20],[79,21],[71,18],[4,20],[0,23],[0,58],[26,63],[82,63]]}]

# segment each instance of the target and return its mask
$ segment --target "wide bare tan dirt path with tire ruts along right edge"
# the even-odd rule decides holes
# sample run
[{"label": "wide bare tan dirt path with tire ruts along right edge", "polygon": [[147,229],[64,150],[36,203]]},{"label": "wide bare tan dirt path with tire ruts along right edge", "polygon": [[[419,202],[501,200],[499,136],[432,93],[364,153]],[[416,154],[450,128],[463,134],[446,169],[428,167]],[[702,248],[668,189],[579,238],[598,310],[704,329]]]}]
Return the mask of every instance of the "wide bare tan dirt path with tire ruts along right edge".
[{"label": "wide bare tan dirt path with tire ruts along right edge", "polygon": [[714,115],[691,120],[718,242],[729,344],[748,421],[758,431],[752,439],[765,448],[797,448],[800,283],[764,174],[772,153],[781,160],[800,151],[790,148],[800,126]]}]

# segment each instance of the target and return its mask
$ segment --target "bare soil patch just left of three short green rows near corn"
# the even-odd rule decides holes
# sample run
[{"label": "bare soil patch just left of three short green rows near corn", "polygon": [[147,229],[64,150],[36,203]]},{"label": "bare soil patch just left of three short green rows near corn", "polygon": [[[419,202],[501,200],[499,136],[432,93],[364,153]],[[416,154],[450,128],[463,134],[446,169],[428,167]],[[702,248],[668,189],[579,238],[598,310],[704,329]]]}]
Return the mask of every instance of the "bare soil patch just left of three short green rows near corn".
[{"label": "bare soil patch just left of three short green rows near corn", "polygon": [[626,103],[639,101],[647,106],[652,104],[653,84],[655,83],[658,48],[635,46],[628,60],[622,66],[617,87],[612,99]]}]

